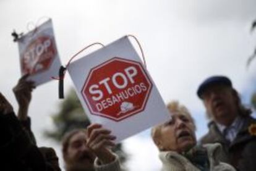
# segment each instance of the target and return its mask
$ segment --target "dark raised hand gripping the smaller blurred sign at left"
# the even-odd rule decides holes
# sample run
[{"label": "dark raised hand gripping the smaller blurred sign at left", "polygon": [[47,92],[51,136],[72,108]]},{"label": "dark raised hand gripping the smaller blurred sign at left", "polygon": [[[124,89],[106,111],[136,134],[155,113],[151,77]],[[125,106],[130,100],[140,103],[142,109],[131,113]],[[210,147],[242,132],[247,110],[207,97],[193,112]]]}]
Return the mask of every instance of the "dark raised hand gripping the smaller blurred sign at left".
[{"label": "dark raised hand gripping the smaller blurred sign at left", "polygon": [[18,118],[21,120],[27,119],[28,106],[32,99],[32,91],[35,88],[33,81],[26,80],[28,76],[28,74],[23,75],[17,85],[12,89],[19,104]]}]

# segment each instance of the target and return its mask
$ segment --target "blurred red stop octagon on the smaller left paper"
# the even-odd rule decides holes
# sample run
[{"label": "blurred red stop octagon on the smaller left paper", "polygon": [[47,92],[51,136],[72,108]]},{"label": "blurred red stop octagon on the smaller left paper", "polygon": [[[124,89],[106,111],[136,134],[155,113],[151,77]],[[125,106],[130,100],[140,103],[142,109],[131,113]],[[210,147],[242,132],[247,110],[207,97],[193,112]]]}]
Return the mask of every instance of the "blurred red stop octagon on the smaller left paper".
[{"label": "blurred red stop octagon on the smaller left paper", "polygon": [[32,41],[22,54],[22,75],[31,75],[47,70],[56,56],[54,41],[48,36],[40,36]]}]

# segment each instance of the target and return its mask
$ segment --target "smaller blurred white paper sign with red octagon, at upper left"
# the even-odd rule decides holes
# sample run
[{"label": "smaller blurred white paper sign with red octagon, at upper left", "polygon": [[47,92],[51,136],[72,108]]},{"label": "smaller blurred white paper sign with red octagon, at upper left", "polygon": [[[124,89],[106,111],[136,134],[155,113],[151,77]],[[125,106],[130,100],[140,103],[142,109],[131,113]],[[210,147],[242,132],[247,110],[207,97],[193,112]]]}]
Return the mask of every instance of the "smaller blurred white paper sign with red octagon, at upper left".
[{"label": "smaller blurred white paper sign with red octagon, at upper left", "polygon": [[35,81],[37,86],[58,77],[61,61],[51,20],[22,36],[18,44],[20,70],[22,75],[30,74],[28,80]]}]

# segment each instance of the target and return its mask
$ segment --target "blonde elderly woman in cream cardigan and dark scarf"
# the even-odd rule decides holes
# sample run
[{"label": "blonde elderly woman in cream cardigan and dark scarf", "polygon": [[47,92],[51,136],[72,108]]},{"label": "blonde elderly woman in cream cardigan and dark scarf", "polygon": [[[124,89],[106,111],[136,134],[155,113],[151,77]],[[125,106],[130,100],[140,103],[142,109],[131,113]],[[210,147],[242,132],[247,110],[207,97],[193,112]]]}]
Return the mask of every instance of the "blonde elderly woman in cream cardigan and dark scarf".
[{"label": "blonde elderly woman in cream cardigan and dark scarf", "polygon": [[185,106],[170,102],[172,119],[152,128],[151,136],[160,150],[162,170],[235,170],[218,161],[220,144],[196,145],[195,123]]}]

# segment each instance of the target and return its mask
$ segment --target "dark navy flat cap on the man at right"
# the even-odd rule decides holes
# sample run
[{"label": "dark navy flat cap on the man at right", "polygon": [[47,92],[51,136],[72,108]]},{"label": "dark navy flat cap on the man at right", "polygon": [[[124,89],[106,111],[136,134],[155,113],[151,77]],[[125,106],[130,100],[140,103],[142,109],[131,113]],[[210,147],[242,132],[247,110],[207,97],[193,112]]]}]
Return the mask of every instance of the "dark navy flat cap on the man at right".
[{"label": "dark navy flat cap on the man at right", "polygon": [[213,76],[213,77],[209,77],[206,80],[204,80],[201,85],[199,86],[198,90],[197,90],[197,96],[202,99],[202,94],[203,91],[205,91],[208,86],[210,85],[218,85],[218,84],[222,84],[222,85],[227,85],[232,87],[232,82],[231,80],[229,80],[228,77],[225,76]]}]

